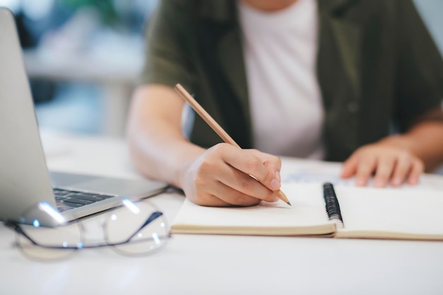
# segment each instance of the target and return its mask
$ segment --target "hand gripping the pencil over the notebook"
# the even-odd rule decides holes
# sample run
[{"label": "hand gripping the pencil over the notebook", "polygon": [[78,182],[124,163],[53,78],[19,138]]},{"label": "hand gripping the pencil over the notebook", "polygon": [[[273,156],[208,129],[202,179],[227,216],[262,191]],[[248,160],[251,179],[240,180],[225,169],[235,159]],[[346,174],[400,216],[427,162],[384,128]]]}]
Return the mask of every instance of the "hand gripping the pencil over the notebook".
[{"label": "hand gripping the pencil over the notebook", "polygon": [[207,149],[186,166],[180,183],[195,204],[251,206],[262,200],[279,200],[273,191],[280,189],[280,168],[277,156],[223,143]]}]

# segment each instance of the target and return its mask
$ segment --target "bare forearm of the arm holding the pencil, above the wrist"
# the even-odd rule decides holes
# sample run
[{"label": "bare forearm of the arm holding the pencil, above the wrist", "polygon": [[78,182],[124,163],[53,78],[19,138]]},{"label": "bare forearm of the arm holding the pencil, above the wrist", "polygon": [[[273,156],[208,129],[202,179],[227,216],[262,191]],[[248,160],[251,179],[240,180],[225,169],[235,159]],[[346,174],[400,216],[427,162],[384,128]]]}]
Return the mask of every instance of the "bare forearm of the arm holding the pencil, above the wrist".
[{"label": "bare forearm of the arm holding the pencil, above the wrist", "polygon": [[[181,133],[180,115],[183,103],[175,103],[175,98],[171,96],[176,93],[171,91],[166,88],[150,88],[135,93],[127,137],[132,161],[140,173],[181,187],[180,173],[205,149],[190,143]],[[171,101],[166,107],[162,105],[163,100],[159,103],[148,96],[166,96],[164,100]],[[162,109],[168,109],[168,113],[162,112]]]}]

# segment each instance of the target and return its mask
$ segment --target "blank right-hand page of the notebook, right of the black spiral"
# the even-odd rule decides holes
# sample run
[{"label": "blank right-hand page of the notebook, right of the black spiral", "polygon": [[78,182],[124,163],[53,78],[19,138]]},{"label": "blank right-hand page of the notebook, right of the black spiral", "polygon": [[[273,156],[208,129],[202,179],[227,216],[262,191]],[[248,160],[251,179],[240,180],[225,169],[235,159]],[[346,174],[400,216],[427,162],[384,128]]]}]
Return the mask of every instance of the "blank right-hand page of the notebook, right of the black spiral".
[{"label": "blank right-hand page of the notebook, right of the black spiral", "polygon": [[343,231],[443,235],[443,192],[340,186],[335,192]]}]

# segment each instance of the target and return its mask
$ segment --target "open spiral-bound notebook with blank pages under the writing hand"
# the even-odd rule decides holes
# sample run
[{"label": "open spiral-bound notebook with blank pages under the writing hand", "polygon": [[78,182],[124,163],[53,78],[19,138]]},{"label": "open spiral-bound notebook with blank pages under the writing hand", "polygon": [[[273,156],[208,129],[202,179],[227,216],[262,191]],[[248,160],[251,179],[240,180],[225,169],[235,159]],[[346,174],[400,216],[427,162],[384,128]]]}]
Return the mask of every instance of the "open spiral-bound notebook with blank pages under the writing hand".
[{"label": "open spiral-bound notebook with blank pages under the writing hand", "polygon": [[343,224],[330,220],[321,183],[283,183],[284,202],[202,207],[188,199],[172,233],[443,241],[443,192],[336,185]]}]

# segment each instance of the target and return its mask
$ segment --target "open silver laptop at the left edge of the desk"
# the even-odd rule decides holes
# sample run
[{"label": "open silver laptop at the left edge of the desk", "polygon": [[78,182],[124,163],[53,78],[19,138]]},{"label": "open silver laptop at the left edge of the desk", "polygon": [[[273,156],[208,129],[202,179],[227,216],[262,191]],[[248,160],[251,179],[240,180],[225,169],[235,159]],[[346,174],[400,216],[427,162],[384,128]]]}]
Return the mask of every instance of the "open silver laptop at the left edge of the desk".
[{"label": "open silver laptop at the left edge of the desk", "polygon": [[0,8],[0,220],[19,221],[45,201],[71,221],[110,209],[122,197],[150,197],[166,187],[47,170],[14,16]]}]

